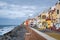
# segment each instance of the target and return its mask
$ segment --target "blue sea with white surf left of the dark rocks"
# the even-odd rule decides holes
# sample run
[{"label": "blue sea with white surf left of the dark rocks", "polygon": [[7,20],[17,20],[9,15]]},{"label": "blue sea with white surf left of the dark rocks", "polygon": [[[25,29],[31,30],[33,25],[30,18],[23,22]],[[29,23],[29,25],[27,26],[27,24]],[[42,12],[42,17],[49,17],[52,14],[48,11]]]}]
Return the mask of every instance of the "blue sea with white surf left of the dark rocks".
[{"label": "blue sea with white surf left of the dark rocks", "polygon": [[17,27],[17,25],[0,25],[0,35],[13,30],[15,27]]}]

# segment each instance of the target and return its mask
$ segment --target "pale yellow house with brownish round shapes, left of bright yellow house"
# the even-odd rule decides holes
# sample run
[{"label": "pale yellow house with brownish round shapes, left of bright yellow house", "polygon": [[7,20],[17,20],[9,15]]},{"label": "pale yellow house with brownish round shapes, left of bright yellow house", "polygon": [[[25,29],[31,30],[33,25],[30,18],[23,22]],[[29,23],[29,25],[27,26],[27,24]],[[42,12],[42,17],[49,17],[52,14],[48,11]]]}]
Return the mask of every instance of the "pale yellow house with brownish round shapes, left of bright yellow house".
[{"label": "pale yellow house with brownish round shapes, left of bright yellow house", "polygon": [[47,23],[46,23],[46,18],[47,18],[47,13],[46,12],[43,12],[43,13],[41,13],[39,16],[38,16],[38,18],[39,18],[39,22],[38,22],[38,24],[39,24],[39,28],[40,29],[46,29],[46,26],[47,26]]}]

